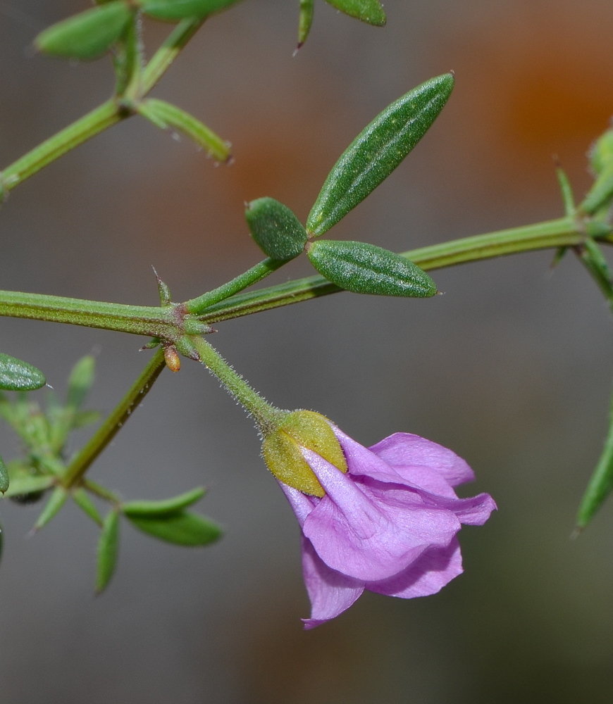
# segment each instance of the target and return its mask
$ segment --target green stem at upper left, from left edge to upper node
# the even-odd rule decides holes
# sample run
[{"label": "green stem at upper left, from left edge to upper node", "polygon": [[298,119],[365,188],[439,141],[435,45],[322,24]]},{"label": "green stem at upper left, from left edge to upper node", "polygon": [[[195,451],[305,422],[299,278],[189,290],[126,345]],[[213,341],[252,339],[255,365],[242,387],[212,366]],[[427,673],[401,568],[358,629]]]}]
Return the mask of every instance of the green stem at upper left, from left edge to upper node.
[{"label": "green stem at upper left, from left edge to upper node", "polygon": [[114,99],[102,103],[91,113],[87,113],[80,120],[68,125],[61,132],[54,134],[53,137],[7,166],[0,173],[0,194],[2,188],[11,191],[70,149],[75,149],[127,116],[128,113],[123,113]]}]

